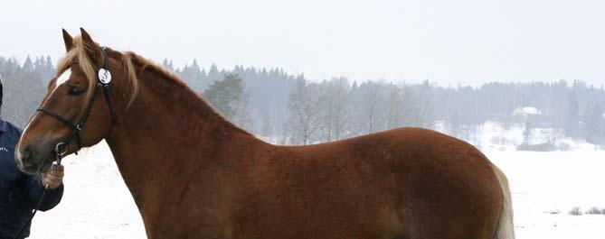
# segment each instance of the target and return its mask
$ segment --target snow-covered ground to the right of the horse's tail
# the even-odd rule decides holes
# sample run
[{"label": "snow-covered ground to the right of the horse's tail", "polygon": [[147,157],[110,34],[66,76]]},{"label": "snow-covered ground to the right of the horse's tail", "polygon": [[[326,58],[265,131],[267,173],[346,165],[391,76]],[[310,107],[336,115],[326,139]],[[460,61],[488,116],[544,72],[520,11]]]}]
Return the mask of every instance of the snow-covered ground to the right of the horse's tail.
[{"label": "snow-covered ground to the right of the horse's tail", "polygon": [[605,238],[605,215],[569,214],[605,209],[605,152],[485,153],[510,182],[516,238]]}]

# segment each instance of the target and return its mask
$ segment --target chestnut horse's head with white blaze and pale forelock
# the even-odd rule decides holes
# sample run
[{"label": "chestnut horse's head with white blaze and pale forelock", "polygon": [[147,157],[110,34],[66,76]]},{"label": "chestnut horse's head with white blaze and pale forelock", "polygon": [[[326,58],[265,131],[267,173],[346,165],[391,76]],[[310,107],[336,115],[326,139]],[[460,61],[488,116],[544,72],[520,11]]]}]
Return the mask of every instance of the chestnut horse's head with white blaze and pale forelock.
[{"label": "chestnut horse's head with white blaze and pale forelock", "polygon": [[[17,143],[15,159],[24,172],[47,171],[57,153],[78,152],[81,147],[94,145],[109,135],[114,115],[99,85],[99,78],[103,78],[98,76],[99,69],[111,70],[112,90],[115,90],[114,82],[128,76],[124,70],[116,69],[122,65],[117,59],[111,59],[86,31],[80,28],[80,32],[81,35],[73,39],[63,30],[67,54],[49,82],[40,108]],[[110,94],[116,95],[116,92]],[[86,120],[82,127],[79,124],[83,118]]]}]

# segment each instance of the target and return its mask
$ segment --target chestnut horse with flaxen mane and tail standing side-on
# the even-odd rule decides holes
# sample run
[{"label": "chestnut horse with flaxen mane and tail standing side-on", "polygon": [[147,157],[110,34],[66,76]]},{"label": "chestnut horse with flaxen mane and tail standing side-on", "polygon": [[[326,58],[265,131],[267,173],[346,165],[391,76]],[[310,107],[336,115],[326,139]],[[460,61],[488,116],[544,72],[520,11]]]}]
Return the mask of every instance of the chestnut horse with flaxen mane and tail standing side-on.
[{"label": "chestnut horse with flaxen mane and tail standing side-on", "polygon": [[[71,122],[90,108],[67,154],[107,141],[148,238],[514,238],[506,177],[467,142],[400,128],[272,145],[149,60],[99,48],[82,29],[63,38],[41,107]],[[92,100],[101,68],[112,74],[109,94]],[[72,130],[33,115],[19,167],[47,170]]]}]

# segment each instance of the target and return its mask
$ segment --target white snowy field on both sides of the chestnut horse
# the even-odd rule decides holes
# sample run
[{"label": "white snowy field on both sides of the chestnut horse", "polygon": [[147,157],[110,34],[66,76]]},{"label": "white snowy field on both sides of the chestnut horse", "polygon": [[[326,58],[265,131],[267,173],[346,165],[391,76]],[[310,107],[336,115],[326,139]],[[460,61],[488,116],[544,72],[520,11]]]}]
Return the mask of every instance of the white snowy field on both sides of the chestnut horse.
[{"label": "white snowy field on both sides of the chestnut horse", "polygon": [[[582,212],[605,208],[605,152],[486,148],[487,157],[510,180],[516,238],[605,238],[605,215],[569,214],[573,207],[581,207]],[[70,156],[63,164],[63,200],[34,218],[31,238],[146,238],[107,144]]]}]

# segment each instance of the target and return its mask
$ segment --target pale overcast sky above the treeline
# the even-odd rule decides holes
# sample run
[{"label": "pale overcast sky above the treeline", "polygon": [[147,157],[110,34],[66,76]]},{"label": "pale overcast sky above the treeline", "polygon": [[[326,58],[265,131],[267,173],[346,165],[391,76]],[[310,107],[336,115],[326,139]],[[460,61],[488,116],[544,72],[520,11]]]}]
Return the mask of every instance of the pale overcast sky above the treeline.
[{"label": "pale overcast sky above the treeline", "polygon": [[[99,3],[98,3],[99,2]],[[177,66],[307,78],[605,83],[605,1],[3,1],[0,56],[62,56],[61,28]]]}]

